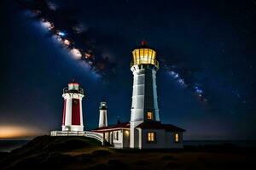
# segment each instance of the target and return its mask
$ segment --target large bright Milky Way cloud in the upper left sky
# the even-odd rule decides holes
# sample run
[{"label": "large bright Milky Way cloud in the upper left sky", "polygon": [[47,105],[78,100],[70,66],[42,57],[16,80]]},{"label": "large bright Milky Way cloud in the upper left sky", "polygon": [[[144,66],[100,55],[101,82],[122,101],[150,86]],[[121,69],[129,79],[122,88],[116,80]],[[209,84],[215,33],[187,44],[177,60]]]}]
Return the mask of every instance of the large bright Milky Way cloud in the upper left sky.
[{"label": "large bright Milky Way cloud in the upper left sky", "polygon": [[102,56],[90,30],[73,17],[73,11],[58,8],[55,3],[46,0],[17,0],[21,10],[28,12],[33,20],[49,31],[58,42],[70,51],[74,59],[85,62],[102,78],[114,74],[115,64]]}]

